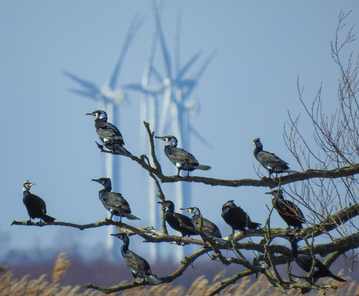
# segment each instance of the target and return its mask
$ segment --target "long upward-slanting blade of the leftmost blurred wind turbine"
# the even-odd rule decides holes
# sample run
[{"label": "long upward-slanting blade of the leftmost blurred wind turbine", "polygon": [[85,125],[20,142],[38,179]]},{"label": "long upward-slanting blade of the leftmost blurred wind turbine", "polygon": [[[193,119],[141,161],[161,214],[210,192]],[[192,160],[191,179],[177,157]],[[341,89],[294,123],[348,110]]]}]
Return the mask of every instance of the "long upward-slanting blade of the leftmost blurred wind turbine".
[{"label": "long upward-slanting blade of the leftmost blurred wind turbine", "polygon": [[133,41],[133,38],[135,37],[139,28],[142,26],[142,23],[143,23],[143,18],[141,18],[140,20],[137,20],[136,16],[133,18],[131,25],[129,27],[129,30],[127,31],[127,35],[124,39],[125,41],[123,42],[120,55],[119,55],[117,62],[110,74],[110,77],[108,78],[108,80],[105,82],[105,84],[103,86],[104,88],[110,88],[111,90],[116,89],[118,78],[120,76],[122,61],[124,60],[127,50],[129,49],[130,44]]}]

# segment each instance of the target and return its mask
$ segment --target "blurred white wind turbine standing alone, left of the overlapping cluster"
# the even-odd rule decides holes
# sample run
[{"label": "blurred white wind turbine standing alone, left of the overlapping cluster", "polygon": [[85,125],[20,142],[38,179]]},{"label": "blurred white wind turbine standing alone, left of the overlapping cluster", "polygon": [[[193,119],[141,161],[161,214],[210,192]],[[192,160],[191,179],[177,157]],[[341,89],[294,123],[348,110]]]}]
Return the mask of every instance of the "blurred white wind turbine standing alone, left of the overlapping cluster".
[{"label": "blurred white wind turbine standing alone, left of the overlapping cluster", "polygon": [[[70,92],[80,95],[82,97],[87,97],[92,100],[98,101],[99,109],[104,110],[111,122],[116,126],[119,126],[118,122],[118,115],[119,115],[119,106],[126,105],[128,103],[126,94],[124,90],[117,86],[120,70],[122,66],[122,62],[128,51],[130,44],[139,30],[140,26],[142,25],[143,20],[138,20],[134,18],[129,30],[126,34],[124,39],[122,49],[120,55],[117,59],[117,62],[107,79],[104,83],[102,88],[99,88],[94,82],[88,81],[86,79],[80,78],[68,71],[65,71],[64,74],[68,76],[70,79],[74,80],[78,83],[82,89],[74,89],[70,88]],[[101,153],[104,160],[102,161],[103,164],[103,171],[106,177],[111,178],[113,191],[120,192],[120,162],[119,157],[117,155],[112,155],[110,153]],[[106,212],[107,213],[107,212]],[[110,234],[113,233],[113,227],[107,227],[107,247],[109,252],[109,260],[112,258],[117,258],[118,254],[118,245],[119,241],[114,240],[110,237]]]}]

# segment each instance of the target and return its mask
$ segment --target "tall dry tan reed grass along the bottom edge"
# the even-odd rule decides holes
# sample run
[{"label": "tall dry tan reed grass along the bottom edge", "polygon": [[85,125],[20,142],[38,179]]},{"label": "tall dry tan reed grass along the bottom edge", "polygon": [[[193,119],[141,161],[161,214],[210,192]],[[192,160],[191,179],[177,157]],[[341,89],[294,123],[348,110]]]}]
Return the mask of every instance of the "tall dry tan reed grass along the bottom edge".
[{"label": "tall dry tan reed grass along the bottom edge", "polygon": [[[6,266],[0,266],[0,295],[1,296],[97,296],[104,295],[100,291],[81,289],[80,286],[61,286],[60,280],[64,276],[66,270],[70,266],[70,260],[65,253],[57,256],[54,271],[52,275],[52,283],[46,281],[46,275],[40,276],[38,279],[29,280],[29,275],[21,279],[14,279],[11,271],[7,271]],[[342,276],[341,270],[338,276]],[[205,296],[215,291],[224,280],[225,270],[220,271],[212,281],[204,276],[199,276],[188,289],[172,283],[162,284],[158,286],[137,287],[132,290],[120,291],[111,295],[121,296]],[[122,282],[120,284],[124,284]],[[323,283],[323,280],[318,282]],[[336,282],[332,279],[325,279],[325,283],[333,284],[338,287],[337,290],[330,289],[326,292],[327,296],[355,296],[359,295],[359,285],[356,281],[349,279],[348,283]],[[299,290],[288,291],[289,295],[300,295]],[[228,286],[219,295],[226,296],[282,296],[283,293],[279,288],[272,287],[266,280],[264,275],[257,279],[249,279],[248,277],[239,280],[237,283]],[[308,295],[323,295],[321,291],[311,291]]]}]

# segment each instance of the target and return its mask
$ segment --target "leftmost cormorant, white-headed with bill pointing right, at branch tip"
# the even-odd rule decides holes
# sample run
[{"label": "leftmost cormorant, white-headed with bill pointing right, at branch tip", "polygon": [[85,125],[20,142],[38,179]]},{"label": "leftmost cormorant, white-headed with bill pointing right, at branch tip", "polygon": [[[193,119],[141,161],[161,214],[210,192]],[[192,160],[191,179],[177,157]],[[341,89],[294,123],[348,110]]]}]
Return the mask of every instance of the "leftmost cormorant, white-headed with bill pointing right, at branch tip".
[{"label": "leftmost cormorant, white-headed with bill pointing right, at branch tip", "polygon": [[23,184],[23,202],[30,216],[27,224],[31,223],[31,219],[35,218],[40,218],[40,224],[42,223],[41,220],[44,222],[55,221],[55,218],[46,215],[46,204],[44,199],[30,193],[30,187],[33,185],[35,185],[35,183],[31,183],[30,181],[25,181]]}]

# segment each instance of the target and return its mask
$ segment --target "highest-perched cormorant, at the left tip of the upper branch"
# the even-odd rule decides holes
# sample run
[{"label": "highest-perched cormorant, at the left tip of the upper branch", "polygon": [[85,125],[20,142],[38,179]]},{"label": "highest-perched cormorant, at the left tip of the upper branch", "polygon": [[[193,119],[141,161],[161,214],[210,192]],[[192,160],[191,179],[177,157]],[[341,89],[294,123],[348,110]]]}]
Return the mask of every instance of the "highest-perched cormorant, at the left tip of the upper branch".
[{"label": "highest-perched cormorant, at the left tip of the upper branch", "polygon": [[131,155],[131,153],[126,150],[123,145],[122,134],[116,126],[107,122],[107,113],[102,110],[96,110],[92,113],[86,113],[86,115],[92,115],[96,117],[95,127],[98,137],[104,146],[110,150],[118,151],[123,154]]}]

